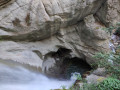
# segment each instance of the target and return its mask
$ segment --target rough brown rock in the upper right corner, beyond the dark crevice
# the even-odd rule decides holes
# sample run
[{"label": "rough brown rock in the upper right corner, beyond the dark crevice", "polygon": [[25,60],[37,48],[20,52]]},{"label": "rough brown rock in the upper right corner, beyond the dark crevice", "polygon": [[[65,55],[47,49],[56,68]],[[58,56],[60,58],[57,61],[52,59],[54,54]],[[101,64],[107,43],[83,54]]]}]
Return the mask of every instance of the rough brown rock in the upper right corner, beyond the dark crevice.
[{"label": "rough brown rock in the upper right corner, beyond the dark crevice", "polygon": [[97,16],[106,26],[116,24],[120,21],[120,1],[107,0],[97,11]]}]

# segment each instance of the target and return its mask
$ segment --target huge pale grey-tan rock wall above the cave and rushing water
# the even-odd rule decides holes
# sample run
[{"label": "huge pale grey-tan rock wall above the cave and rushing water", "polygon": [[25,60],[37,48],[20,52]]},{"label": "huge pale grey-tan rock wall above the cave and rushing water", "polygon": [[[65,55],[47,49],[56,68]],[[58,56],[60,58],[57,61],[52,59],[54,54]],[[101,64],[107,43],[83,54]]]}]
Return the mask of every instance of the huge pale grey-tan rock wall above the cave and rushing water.
[{"label": "huge pale grey-tan rock wall above the cave and rushing water", "polygon": [[102,28],[119,20],[118,2],[0,0],[0,59],[49,70],[55,60],[48,53],[63,47],[71,57],[92,63],[95,53],[109,51],[109,35]]}]

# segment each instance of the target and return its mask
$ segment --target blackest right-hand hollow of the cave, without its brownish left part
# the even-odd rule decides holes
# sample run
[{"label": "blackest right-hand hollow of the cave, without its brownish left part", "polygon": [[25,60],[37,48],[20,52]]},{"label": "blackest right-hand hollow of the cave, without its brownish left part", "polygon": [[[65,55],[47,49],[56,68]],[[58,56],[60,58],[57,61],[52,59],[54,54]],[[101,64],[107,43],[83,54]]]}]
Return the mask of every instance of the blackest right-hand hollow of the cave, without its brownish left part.
[{"label": "blackest right-hand hollow of the cave, without its brownish left part", "polygon": [[91,66],[84,60],[78,57],[66,58],[63,60],[63,75],[65,79],[70,79],[72,73],[80,73],[81,76],[87,71],[90,71]]}]

